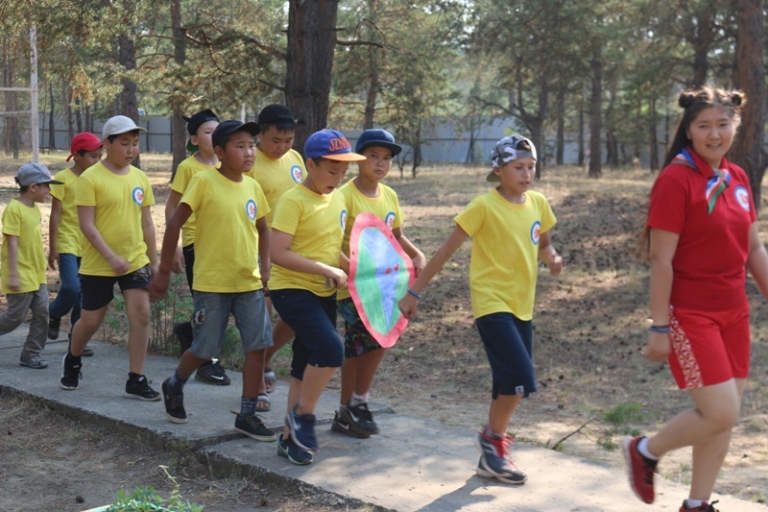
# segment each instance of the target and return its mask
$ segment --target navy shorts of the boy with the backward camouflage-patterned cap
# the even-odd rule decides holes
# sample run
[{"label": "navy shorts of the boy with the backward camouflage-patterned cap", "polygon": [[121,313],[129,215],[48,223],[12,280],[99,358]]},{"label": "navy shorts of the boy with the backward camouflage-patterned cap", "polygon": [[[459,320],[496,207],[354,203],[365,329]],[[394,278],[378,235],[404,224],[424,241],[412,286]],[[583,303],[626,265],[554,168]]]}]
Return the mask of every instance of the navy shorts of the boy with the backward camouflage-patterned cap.
[{"label": "navy shorts of the boy with the backward camouflage-patterned cap", "polygon": [[491,313],[476,319],[493,376],[492,396],[536,392],[533,372],[533,322],[512,313]]}]

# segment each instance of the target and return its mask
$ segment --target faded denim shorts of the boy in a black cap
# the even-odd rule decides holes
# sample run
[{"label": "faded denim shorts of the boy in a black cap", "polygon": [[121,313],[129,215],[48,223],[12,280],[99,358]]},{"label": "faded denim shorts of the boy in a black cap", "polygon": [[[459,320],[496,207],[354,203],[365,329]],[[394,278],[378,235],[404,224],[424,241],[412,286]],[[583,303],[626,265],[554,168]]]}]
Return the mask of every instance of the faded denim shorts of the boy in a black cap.
[{"label": "faded denim shorts of the boy in a black cap", "polygon": [[263,290],[240,293],[195,291],[192,298],[195,304],[192,354],[195,357],[211,359],[219,355],[230,314],[235,317],[235,326],[240,331],[246,352],[272,346],[272,324],[267,318]]}]

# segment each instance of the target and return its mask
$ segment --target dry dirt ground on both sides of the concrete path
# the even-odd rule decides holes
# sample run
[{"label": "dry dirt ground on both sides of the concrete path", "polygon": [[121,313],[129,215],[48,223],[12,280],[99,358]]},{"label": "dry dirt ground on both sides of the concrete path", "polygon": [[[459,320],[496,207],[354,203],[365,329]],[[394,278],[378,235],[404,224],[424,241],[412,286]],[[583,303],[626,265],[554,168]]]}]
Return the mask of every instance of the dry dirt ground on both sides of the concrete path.
[{"label": "dry dirt ground on both sides of the concrete path", "polygon": [[[170,159],[161,155],[142,159],[158,201],[153,215],[159,241]],[[42,161],[54,171],[65,165],[62,155],[45,155]],[[0,160],[0,187],[13,188],[12,176],[21,163]],[[424,169],[414,180],[400,178],[397,169],[391,171],[386,183],[400,196],[404,231],[427,256],[452,229],[453,216],[488,190],[486,174],[485,168],[439,167]],[[643,170],[606,170],[599,180],[585,176],[585,171],[573,167],[549,168],[536,183],[557,215],[553,242],[565,268],[556,279],[542,268],[534,313],[539,391],[518,409],[510,432],[519,441],[557,445],[565,453],[620,466],[617,446],[623,435],[652,433],[690,402],[676,389],[666,365],[640,355],[648,325],[648,269],[636,254],[653,176]],[[0,194],[0,209],[10,197]],[[41,209],[47,233],[49,206]],[[762,211],[767,211],[765,206]],[[768,240],[766,219],[763,213],[761,231]],[[47,234],[45,238],[47,243]],[[486,419],[490,374],[469,302],[470,249],[471,242],[466,242],[427,287],[416,319],[385,358],[372,394],[397,412],[472,428]],[[49,283],[52,291],[57,289],[54,272],[49,272]],[[762,320],[768,304],[753,282],[747,291],[753,318],[752,375],[716,490],[765,503],[768,326]],[[337,375],[331,386],[338,385]],[[253,483],[212,481],[191,461],[149,452],[130,439],[77,425],[35,404],[5,396],[0,397],[0,406],[0,433],[13,432],[0,441],[3,453],[12,450],[12,456],[0,460],[2,510],[81,510],[98,505],[76,506],[76,493],[68,489],[105,489],[107,501],[118,489],[137,485],[169,493],[173,483],[160,465],[171,468],[184,498],[206,505],[206,510],[239,510],[239,503],[253,507],[260,502],[262,491]],[[33,435],[40,425],[52,434],[43,436],[43,441]],[[670,454],[660,471],[670,480],[688,482],[690,452]],[[50,484],[30,485],[29,479],[21,480],[19,475],[24,474],[39,474]],[[56,497],[62,501],[50,501]],[[305,509],[302,500],[301,490],[270,489],[269,507],[264,510]],[[326,510],[354,507],[329,503]]]}]

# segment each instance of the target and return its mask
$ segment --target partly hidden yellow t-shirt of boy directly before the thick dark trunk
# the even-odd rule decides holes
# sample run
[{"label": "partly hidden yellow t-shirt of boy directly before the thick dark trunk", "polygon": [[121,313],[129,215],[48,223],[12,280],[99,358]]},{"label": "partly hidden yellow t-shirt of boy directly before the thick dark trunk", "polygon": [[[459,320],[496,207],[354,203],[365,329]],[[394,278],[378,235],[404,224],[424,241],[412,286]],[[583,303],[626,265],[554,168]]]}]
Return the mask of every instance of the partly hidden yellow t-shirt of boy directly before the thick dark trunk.
[{"label": "partly hidden yellow t-shirt of boy directly before the thick dark trunk", "polygon": [[277,160],[273,160],[256,148],[256,160],[246,175],[258,181],[264,195],[267,196],[267,203],[271,210],[267,214],[267,225],[272,226],[277,200],[296,184],[304,181],[307,177],[307,169],[304,167],[301,155],[293,149]]}]

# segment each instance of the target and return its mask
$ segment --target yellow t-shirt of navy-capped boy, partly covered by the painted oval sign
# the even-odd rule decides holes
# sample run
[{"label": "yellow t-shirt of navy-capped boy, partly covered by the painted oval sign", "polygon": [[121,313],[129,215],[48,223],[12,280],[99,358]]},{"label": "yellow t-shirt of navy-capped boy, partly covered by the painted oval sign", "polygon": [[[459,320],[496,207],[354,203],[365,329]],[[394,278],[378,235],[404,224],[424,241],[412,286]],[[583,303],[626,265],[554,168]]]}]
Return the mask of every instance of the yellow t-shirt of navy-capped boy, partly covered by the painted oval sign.
[{"label": "yellow t-shirt of navy-capped boy, partly covered by the painted oval sign", "polygon": [[[400,210],[400,202],[397,200],[397,192],[390,187],[379,183],[379,197],[368,197],[355,186],[355,180],[349,180],[339,189],[344,196],[347,206],[347,225],[344,230],[344,242],[341,250],[349,256],[349,239],[352,236],[352,227],[357,216],[364,212],[371,212],[384,221],[389,229],[399,228],[403,223],[403,212]],[[336,293],[338,300],[349,298],[349,290],[342,288]]]}]

